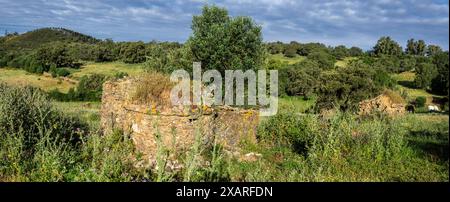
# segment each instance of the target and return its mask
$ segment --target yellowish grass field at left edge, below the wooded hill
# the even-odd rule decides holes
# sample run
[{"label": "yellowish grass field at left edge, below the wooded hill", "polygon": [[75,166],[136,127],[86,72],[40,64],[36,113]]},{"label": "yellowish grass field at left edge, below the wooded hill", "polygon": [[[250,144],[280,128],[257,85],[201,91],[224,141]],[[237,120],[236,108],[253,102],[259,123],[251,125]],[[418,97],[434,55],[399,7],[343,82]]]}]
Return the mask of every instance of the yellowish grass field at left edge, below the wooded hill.
[{"label": "yellowish grass field at left edge, below the wooded hill", "polygon": [[0,68],[0,82],[15,86],[31,85],[44,91],[58,89],[67,92],[76,84],[58,78],[28,73],[21,69]]}]

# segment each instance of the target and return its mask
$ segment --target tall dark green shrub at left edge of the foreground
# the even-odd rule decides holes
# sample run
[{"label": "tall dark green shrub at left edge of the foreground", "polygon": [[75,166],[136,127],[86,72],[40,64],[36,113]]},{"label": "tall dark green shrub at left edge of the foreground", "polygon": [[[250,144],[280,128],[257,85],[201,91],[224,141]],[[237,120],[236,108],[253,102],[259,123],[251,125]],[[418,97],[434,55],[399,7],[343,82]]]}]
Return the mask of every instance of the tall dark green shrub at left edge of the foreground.
[{"label": "tall dark green shrub at left edge of the foreground", "polygon": [[85,129],[78,119],[54,110],[45,93],[32,87],[9,87],[0,84],[0,131],[5,135],[24,135],[22,144],[32,150],[43,136],[62,142],[74,142]]}]

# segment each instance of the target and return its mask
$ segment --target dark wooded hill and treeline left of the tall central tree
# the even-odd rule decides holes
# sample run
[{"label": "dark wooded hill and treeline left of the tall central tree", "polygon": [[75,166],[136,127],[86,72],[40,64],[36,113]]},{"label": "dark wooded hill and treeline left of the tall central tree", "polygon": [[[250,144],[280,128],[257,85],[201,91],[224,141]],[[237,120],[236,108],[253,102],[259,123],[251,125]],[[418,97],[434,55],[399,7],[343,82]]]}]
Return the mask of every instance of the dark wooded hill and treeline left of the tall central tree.
[{"label": "dark wooded hill and treeline left of the tall central tree", "polygon": [[78,68],[83,61],[141,63],[156,46],[179,48],[177,42],[113,42],[98,40],[63,28],[43,28],[0,37],[0,67],[23,68],[32,73],[52,68]]}]

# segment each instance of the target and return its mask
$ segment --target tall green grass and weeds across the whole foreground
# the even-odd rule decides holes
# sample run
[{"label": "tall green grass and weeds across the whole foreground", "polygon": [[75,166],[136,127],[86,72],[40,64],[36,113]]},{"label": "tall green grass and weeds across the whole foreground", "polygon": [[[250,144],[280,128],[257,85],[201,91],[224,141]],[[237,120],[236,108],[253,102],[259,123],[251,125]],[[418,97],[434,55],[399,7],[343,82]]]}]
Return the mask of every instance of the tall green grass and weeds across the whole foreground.
[{"label": "tall green grass and weeds across the whole foreground", "polygon": [[[32,88],[0,85],[0,181],[448,181],[448,116],[329,117],[280,111],[261,123],[245,161],[197,124],[185,152],[156,127],[156,168],[137,167],[130,134],[101,134]],[[163,135],[172,135],[172,146]],[[217,135],[217,134],[216,134]],[[170,161],[181,162],[170,169]]]}]

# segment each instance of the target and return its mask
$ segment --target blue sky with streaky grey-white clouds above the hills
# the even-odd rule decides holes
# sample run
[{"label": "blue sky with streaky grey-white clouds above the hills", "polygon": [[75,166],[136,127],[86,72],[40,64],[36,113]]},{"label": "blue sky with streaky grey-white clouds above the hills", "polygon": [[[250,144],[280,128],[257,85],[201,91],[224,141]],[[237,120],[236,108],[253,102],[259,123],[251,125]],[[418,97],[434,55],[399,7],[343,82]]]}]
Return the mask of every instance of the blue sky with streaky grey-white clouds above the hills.
[{"label": "blue sky with streaky grey-white clouds above the hills", "polygon": [[114,41],[178,41],[205,4],[251,16],[264,41],[371,49],[381,36],[449,47],[448,0],[0,0],[0,35],[64,27]]}]

